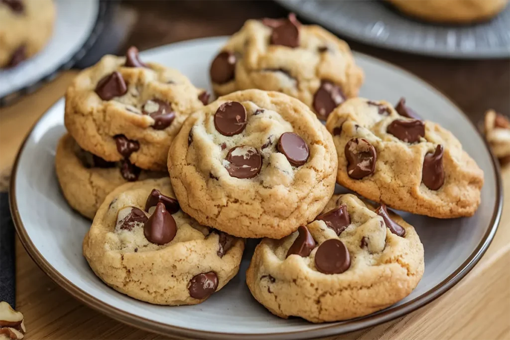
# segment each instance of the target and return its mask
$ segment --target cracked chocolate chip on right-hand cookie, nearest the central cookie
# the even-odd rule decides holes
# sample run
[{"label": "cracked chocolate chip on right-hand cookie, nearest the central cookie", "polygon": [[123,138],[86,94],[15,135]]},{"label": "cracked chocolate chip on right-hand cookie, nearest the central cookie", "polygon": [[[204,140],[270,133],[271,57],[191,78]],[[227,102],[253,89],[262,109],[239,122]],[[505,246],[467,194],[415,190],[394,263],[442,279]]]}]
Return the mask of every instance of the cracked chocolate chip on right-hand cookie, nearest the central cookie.
[{"label": "cracked chocolate chip on right-hand cookie, nearest the central cookie", "polygon": [[362,179],[375,170],[377,153],[366,139],[353,138],[345,144],[345,158],[347,159],[347,174],[354,179]]}]

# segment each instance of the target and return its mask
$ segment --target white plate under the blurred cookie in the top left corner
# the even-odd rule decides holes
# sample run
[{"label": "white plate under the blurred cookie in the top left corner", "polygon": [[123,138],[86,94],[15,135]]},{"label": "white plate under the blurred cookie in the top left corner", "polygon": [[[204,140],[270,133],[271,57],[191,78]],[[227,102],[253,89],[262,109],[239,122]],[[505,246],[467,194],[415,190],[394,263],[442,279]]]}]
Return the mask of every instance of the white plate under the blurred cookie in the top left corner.
[{"label": "white plate under the blurred cookie in the top left corner", "polygon": [[89,38],[99,13],[99,0],[55,0],[55,5],[54,33],[44,49],[17,67],[0,69],[0,99],[35,86],[39,80],[52,75],[69,62]]}]

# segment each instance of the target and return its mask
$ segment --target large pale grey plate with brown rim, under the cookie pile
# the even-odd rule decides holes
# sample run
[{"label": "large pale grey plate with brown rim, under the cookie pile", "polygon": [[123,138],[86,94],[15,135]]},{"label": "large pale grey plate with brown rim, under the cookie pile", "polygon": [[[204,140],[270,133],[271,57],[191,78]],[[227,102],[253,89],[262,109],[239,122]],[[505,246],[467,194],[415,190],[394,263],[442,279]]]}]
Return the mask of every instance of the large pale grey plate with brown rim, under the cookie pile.
[{"label": "large pale grey plate with brown rim, under the cookie pile", "polygon": [[[141,57],[180,69],[196,86],[210,88],[209,63],[225,39],[177,43],[146,51]],[[11,210],[23,245],[52,279],[85,304],[147,330],[193,338],[327,336],[373,326],[430,302],[469,272],[494,236],[501,213],[497,166],[473,124],[443,95],[390,64],[361,54],[355,58],[366,73],[363,96],[391,102],[405,96],[420,115],[450,129],[486,176],[481,205],[472,218],[437,220],[404,214],[424,244],[425,274],[417,289],[399,303],[365,318],[338,323],[279,319],[251,297],[244,282],[252,243],[248,244],[239,275],[199,305],[155,306],[110,289],[92,273],[82,256],[82,240],[90,222],[67,205],[55,176],[55,148],[65,133],[63,99],[35,124],[14,167]]]}]

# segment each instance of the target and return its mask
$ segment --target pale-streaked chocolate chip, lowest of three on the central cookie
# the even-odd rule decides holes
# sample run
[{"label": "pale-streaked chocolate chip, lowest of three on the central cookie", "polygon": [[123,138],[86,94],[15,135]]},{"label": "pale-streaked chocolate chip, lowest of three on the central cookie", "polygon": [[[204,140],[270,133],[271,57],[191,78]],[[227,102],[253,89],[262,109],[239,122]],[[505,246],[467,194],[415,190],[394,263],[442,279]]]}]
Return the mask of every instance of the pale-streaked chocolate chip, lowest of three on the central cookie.
[{"label": "pale-streaked chocolate chip, lowest of three on the central cookie", "polygon": [[262,168],[262,158],[259,151],[251,146],[236,146],[228,151],[225,160],[226,170],[232,177],[253,178]]}]

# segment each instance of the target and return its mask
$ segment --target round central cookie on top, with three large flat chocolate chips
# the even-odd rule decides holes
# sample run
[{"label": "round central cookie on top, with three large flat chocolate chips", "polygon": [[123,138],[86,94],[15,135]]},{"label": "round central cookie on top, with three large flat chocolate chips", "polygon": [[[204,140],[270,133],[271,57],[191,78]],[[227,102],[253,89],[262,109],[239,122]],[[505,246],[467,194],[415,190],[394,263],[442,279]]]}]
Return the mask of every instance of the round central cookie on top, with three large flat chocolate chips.
[{"label": "round central cookie on top, with three large flat chocolate chips", "polygon": [[183,210],[245,237],[283,238],[322,211],[335,189],[330,134],[299,100],[245,90],[192,114],[168,154]]}]

